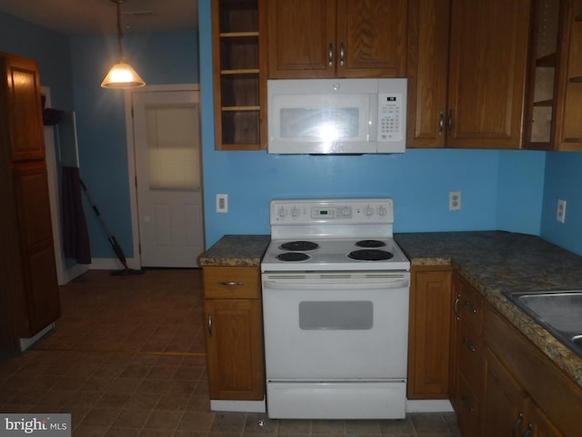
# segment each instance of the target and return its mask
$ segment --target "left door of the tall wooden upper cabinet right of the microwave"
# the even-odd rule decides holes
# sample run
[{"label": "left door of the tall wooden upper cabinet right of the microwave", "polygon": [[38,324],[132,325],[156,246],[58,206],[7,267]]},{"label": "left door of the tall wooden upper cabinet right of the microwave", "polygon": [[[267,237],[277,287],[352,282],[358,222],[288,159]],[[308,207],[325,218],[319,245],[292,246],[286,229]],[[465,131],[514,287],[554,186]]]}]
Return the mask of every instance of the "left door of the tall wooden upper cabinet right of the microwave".
[{"label": "left door of the tall wooden upper cabinet right of the microwave", "polygon": [[406,147],[445,147],[450,0],[408,5]]}]

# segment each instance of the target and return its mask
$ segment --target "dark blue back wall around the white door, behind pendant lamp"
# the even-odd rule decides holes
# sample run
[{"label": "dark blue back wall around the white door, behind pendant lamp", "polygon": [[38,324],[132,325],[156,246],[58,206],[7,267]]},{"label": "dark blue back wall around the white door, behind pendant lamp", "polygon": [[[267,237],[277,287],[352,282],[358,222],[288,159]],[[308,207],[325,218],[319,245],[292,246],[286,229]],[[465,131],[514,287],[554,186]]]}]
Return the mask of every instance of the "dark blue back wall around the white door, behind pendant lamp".
[{"label": "dark blue back wall around the white door, behind pendant lamp", "polygon": [[[73,89],[81,177],[111,233],[133,256],[125,92],[100,86],[118,56],[115,36],[72,36]],[[147,85],[198,82],[196,33],[125,35],[124,54]],[[94,258],[115,258],[105,232],[85,214]]]}]

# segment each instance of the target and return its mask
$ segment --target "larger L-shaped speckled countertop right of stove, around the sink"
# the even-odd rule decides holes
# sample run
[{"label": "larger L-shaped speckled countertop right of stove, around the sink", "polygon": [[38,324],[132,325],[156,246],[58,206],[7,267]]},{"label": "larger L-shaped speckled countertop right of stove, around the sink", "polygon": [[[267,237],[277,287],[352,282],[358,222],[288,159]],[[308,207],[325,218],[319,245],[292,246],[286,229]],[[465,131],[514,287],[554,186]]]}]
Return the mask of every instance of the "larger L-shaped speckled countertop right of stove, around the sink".
[{"label": "larger L-shaped speckled countertop right of stove, around the sink", "polygon": [[412,266],[451,265],[582,387],[582,359],[501,294],[582,289],[582,257],[525,234],[502,231],[395,234]]}]

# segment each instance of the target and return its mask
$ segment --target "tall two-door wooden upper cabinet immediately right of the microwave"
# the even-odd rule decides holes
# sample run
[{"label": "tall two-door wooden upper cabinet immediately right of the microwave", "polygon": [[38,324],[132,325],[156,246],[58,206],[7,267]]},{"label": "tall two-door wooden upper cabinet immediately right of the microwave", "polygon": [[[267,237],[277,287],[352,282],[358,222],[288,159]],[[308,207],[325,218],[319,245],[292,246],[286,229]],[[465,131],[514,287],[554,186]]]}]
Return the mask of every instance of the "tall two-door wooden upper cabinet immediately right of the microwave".
[{"label": "tall two-door wooden upper cabinet immediately right of the microwave", "polygon": [[409,8],[407,146],[519,148],[529,0]]}]

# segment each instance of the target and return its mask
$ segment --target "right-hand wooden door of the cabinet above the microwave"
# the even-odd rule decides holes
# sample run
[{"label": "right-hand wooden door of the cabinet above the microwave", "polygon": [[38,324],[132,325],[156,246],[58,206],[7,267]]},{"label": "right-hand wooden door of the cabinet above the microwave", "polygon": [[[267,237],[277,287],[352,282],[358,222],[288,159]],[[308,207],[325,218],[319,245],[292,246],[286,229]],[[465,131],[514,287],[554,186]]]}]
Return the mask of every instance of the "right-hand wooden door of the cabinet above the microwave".
[{"label": "right-hand wooden door of the cabinet above the microwave", "polygon": [[337,0],[336,75],[406,77],[406,0]]}]

